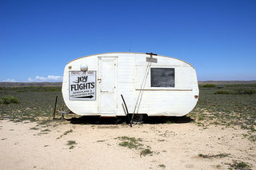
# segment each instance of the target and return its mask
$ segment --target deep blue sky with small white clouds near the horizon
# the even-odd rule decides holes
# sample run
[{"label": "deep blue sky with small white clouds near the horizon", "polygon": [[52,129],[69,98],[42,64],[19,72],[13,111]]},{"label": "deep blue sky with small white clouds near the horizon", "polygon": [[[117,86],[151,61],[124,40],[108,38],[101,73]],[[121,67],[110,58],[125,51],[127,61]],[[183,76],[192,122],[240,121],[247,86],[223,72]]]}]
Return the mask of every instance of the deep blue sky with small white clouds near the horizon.
[{"label": "deep blue sky with small white clouds near the horizon", "polygon": [[0,0],[0,81],[62,81],[68,61],[158,53],[199,81],[256,80],[255,0]]}]

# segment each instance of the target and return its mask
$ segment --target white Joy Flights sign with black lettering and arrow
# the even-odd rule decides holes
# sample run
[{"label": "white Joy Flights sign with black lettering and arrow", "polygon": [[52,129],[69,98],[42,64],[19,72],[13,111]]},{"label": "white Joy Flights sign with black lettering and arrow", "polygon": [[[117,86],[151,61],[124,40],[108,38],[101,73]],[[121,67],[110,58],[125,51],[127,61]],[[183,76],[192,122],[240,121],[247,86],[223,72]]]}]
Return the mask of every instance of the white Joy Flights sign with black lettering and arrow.
[{"label": "white Joy Flights sign with black lettering and arrow", "polygon": [[70,71],[70,101],[95,101],[96,71]]}]

